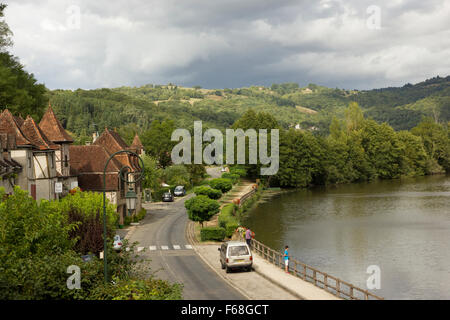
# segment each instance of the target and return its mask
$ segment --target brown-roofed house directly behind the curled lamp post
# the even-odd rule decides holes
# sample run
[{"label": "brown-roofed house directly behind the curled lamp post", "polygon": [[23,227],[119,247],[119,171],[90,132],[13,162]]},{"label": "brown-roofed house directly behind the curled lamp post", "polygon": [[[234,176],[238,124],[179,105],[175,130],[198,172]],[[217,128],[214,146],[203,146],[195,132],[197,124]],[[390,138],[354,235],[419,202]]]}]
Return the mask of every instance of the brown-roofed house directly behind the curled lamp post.
[{"label": "brown-roofed house directly behind the curled lamp post", "polygon": [[[137,146],[133,146],[133,150],[135,147]],[[128,172],[129,174],[124,176],[127,176],[129,181],[133,181],[134,175],[140,172],[138,159],[130,154],[121,153],[111,159],[106,168],[104,181],[104,170],[108,159],[122,150],[133,151],[116,131],[108,128],[105,128],[100,137],[90,145],[69,147],[70,168],[72,174],[78,176],[80,188],[84,191],[103,192],[105,184],[107,199],[117,205],[120,224],[123,224],[124,218],[129,215],[125,200],[129,186],[120,178],[120,172],[121,170]],[[138,212],[142,208],[141,184],[138,182],[130,186],[138,196],[136,201],[136,212]]]}]

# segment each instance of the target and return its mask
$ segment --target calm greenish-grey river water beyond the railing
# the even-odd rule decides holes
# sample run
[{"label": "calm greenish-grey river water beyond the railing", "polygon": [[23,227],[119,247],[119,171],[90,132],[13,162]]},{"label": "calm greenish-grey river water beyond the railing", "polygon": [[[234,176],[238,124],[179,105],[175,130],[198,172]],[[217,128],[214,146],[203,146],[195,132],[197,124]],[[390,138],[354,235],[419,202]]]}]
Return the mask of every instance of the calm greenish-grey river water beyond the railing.
[{"label": "calm greenish-grey river water beyond the railing", "polygon": [[386,299],[450,299],[450,176],[276,195],[244,224],[278,250],[366,289],[381,270]]}]

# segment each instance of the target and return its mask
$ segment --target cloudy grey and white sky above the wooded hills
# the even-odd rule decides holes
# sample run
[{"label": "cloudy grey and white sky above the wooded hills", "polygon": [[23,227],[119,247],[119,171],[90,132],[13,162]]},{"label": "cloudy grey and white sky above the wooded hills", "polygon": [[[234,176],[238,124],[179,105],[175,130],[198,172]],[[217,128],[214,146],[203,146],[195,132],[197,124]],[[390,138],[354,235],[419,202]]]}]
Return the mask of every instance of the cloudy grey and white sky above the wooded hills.
[{"label": "cloudy grey and white sky above the wooded hills", "polygon": [[450,74],[450,0],[0,1],[10,51],[50,89],[372,89]]}]

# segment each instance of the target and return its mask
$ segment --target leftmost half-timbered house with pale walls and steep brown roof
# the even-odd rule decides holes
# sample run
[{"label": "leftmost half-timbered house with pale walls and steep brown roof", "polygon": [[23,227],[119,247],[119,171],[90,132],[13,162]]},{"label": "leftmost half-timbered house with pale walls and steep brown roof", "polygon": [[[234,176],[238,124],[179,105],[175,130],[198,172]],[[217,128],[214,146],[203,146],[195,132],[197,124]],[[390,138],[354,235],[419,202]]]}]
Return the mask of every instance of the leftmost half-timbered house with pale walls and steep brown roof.
[{"label": "leftmost half-timbered house with pale walls and steep brown roof", "polygon": [[[5,109],[0,114],[0,134],[7,141],[7,150],[3,162],[14,161],[21,170],[16,169],[13,185],[19,185],[36,199],[56,199],[57,182],[55,150],[53,144],[31,117],[24,120]],[[13,140],[15,142],[13,142]],[[2,141],[2,147],[3,141]]]}]

